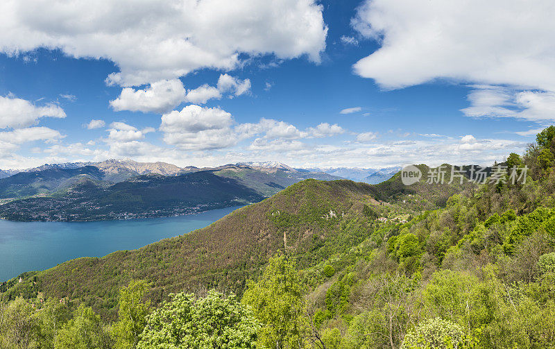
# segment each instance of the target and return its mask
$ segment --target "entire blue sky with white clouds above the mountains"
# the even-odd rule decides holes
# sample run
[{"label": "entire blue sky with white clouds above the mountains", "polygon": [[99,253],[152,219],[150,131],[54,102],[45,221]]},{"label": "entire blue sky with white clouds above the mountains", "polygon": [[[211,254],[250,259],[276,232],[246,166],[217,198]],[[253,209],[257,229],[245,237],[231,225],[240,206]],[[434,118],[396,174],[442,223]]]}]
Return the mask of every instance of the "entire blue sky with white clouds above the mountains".
[{"label": "entire blue sky with white clouds above the mountains", "polygon": [[490,164],[555,118],[549,1],[26,2],[0,5],[0,169]]}]

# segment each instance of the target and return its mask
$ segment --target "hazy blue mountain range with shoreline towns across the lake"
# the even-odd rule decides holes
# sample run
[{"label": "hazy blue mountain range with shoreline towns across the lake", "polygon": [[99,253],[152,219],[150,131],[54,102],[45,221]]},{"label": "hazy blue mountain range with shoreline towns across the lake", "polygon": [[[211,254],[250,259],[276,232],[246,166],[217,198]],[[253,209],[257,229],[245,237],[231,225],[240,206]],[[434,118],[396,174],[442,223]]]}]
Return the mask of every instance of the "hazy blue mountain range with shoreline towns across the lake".
[{"label": "hazy blue mountain range with shoreline towns across the lake", "polygon": [[0,217],[90,221],[174,216],[254,203],[307,178],[342,179],[277,163],[203,169],[133,160],[45,164],[0,179]]}]

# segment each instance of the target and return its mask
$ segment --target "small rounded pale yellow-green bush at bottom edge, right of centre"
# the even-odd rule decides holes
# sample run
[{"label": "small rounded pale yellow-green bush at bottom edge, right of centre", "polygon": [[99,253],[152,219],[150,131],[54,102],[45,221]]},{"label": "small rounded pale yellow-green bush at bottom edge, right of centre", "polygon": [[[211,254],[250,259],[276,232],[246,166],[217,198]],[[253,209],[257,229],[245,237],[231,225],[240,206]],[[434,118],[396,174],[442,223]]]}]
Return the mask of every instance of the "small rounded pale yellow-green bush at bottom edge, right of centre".
[{"label": "small rounded pale yellow-green bush at bottom edge, right of centre", "polygon": [[457,349],[462,348],[464,340],[461,326],[442,318],[430,318],[407,333],[401,349]]}]

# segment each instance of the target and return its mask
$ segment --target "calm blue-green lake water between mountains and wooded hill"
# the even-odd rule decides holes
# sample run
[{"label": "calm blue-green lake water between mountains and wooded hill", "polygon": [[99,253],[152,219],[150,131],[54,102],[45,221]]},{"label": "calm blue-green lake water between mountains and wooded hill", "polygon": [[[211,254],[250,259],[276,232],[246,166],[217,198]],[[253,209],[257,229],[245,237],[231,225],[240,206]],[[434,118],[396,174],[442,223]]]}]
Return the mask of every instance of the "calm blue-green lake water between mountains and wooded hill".
[{"label": "calm blue-green lake water between mountains and wooded hill", "polygon": [[166,218],[96,222],[0,219],[0,282],[77,257],[101,257],[204,228],[240,206]]}]

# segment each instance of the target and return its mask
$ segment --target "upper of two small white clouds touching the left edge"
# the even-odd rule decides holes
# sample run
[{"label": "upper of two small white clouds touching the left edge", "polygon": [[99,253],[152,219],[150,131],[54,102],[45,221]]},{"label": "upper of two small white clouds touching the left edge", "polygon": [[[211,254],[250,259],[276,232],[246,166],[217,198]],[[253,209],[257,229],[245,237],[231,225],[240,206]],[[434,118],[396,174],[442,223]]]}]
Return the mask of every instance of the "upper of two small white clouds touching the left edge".
[{"label": "upper of two small white clouds touching the left edge", "polygon": [[42,117],[64,118],[66,114],[53,103],[37,106],[14,96],[0,96],[0,129],[32,126]]}]

